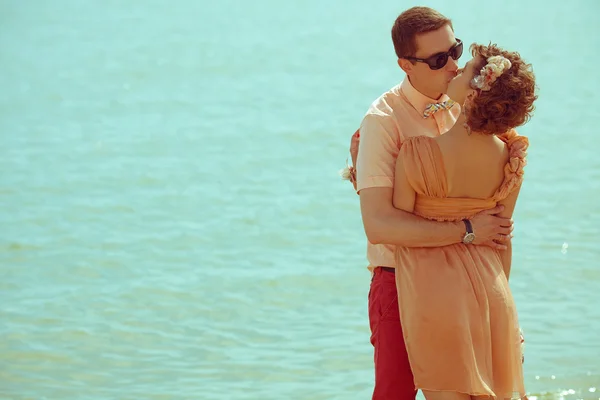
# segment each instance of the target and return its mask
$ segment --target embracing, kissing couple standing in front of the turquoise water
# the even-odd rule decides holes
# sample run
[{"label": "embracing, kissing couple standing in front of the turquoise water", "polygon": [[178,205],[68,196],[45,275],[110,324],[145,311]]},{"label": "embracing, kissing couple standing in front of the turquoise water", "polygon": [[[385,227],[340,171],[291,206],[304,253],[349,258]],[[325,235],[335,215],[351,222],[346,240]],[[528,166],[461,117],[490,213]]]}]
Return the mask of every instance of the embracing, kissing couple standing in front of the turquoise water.
[{"label": "embracing, kissing couple standing in front of the turquoise water", "polygon": [[353,135],[372,272],[373,399],[522,399],[519,321],[509,289],[512,215],[535,78],[518,53],[464,44],[427,7],[392,28],[404,81]]}]

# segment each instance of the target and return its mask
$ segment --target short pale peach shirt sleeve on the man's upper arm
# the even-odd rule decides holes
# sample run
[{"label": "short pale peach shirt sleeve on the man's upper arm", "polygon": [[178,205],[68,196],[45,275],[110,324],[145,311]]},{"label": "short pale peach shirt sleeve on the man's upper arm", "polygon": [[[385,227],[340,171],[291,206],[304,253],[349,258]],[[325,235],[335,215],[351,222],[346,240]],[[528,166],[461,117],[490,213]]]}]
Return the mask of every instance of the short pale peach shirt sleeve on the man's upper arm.
[{"label": "short pale peach shirt sleeve on the man's upper arm", "polygon": [[356,163],[357,191],[394,187],[396,158],[400,148],[395,125],[387,117],[367,114],[360,126]]}]

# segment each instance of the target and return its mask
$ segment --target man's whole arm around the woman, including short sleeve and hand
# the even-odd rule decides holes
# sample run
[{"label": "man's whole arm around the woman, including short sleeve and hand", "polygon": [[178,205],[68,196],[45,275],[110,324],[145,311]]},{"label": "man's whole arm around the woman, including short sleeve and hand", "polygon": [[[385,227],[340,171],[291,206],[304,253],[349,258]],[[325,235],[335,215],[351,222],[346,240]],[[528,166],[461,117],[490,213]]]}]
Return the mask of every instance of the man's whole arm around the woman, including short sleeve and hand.
[{"label": "man's whole arm around the woman, including short sleeve and hand", "polygon": [[[367,239],[373,244],[404,247],[438,247],[460,243],[464,223],[437,222],[417,217],[393,205],[393,186],[399,151],[398,139],[385,118],[367,115],[360,127],[357,156],[357,190]],[[495,216],[502,208],[483,211],[471,222],[474,244],[496,249],[510,239],[512,221]]]}]

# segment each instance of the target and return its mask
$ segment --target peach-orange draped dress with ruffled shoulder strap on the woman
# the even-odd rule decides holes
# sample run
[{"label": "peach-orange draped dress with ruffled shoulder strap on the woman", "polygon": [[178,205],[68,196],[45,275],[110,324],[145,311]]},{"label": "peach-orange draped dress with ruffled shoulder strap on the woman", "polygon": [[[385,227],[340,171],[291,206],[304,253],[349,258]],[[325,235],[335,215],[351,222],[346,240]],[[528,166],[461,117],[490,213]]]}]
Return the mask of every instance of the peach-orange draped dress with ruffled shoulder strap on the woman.
[{"label": "peach-orange draped dress with ruffled shoulder strap on the woman", "polygon": [[[414,214],[459,221],[491,209],[523,180],[528,140],[510,131],[505,178],[489,199],[449,198],[438,144],[408,139],[400,149]],[[498,251],[462,243],[437,248],[397,247],[400,318],[417,389],[498,399],[523,398],[517,310]]]}]

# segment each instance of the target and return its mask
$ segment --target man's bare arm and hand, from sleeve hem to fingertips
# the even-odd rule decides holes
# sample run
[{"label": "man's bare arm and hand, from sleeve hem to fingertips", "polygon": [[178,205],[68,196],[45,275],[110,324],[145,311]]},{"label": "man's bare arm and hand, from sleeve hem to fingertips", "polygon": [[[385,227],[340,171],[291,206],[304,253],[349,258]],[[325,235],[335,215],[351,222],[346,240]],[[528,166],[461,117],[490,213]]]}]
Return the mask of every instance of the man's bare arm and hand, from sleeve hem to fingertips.
[{"label": "man's bare arm and hand, from sleeve hem to fingertips", "polygon": [[[366,188],[359,192],[360,210],[369,242],[404,247],[439,247],[462,242],[466,232],[462,221],[431,221],[399,210],[394,207],[393,194],[394,190],[387,187]],[[512,221],[495,215],[503,208],[499,205],[471,219],[476,236],[473,244],[498,250],[507,248],[501,242],[510,240]]]}]

